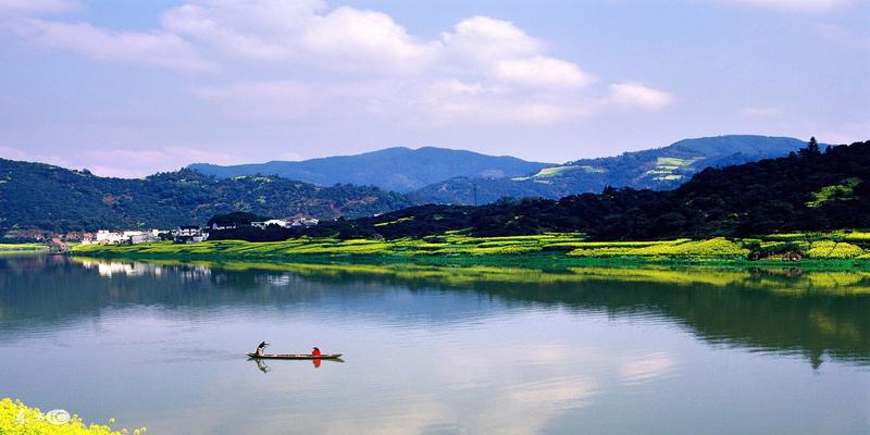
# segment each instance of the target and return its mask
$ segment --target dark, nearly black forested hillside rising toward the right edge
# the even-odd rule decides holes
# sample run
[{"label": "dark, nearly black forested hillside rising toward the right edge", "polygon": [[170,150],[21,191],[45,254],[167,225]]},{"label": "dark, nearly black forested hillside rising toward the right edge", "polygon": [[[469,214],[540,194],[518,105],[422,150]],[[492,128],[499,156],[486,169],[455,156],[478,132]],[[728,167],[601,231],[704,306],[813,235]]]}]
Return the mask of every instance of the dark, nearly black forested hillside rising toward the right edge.
[{"label": "dark, nearly black forested hillside rising toward the right edge", "polygon": [[870,225],[870,141],[785,158],[709,167],[673,190],[607,188],[560,200],[489,206],[423,206],[377,217],[338,221],[306,234],[351,237],[583,232],[593,239],[645,240],[747,236]]}]

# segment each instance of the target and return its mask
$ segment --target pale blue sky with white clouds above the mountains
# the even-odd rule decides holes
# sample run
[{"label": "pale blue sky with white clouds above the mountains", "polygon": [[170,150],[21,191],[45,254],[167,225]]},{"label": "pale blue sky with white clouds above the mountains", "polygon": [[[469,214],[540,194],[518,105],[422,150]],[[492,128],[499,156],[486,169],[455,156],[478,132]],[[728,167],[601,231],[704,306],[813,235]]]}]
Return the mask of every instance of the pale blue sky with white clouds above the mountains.
[{"label": "pale blue sky with white clouds above the mountains", "polygon": [[0,158],[139,177],[867,140],[869,24],[870,0],[0,0]]}]

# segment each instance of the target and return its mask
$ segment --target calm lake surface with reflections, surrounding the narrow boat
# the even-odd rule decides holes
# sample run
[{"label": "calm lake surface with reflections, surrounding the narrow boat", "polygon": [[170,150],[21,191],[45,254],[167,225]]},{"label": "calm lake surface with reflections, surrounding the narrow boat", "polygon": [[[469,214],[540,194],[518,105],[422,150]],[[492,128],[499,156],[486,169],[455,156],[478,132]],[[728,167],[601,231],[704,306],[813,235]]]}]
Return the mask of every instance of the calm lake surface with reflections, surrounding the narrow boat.
[{"label": "calm lake surface with reflections, surrounding the narrow boat", "polygon": [[258,268],[0,258],[0,397],[151,434],[870,431],[870,275]]}]

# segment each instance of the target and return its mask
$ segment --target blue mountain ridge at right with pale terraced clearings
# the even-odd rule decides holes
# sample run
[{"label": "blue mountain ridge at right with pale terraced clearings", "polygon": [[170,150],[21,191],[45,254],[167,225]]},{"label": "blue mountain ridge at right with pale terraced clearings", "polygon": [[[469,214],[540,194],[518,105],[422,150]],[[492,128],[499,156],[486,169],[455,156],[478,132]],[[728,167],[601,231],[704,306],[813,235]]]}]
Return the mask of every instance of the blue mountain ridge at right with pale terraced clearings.
[{"label": "blue mountain ridge at right with pale terraced clearings", "polygon": [[791,137],[753,135],[684,139],[662,148],[576,160],[521,177],[455,177],[410,195],[421,203],[484,204],[502,197],[558,199],[607,186],[667,190],[706,167],[783,157],[805,145]]}]

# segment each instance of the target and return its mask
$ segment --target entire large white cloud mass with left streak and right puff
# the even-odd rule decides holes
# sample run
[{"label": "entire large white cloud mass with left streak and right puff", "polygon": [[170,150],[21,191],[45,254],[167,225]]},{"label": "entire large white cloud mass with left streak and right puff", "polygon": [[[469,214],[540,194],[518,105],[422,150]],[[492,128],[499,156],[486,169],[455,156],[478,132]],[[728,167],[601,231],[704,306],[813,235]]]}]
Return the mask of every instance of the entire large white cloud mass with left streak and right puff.
[{"label": "entire large white cloud mass with left streak and right puff", "polygon": [[[673,101],[661,90],[617,84],[602,103],[585,91],[596,77],[513,23],[488,16],[420,38],[385,13],[330,9],[322,0],[192,0],[164,12],[160,25],[114,32],[22,18],[12,28],[102,61],[186,72],[266,65],[274,79],[222,83],[215,74],[194,88],[227,116],[247,121],[540,124]],[[301,70],[318,79],[293,73]]]}]

